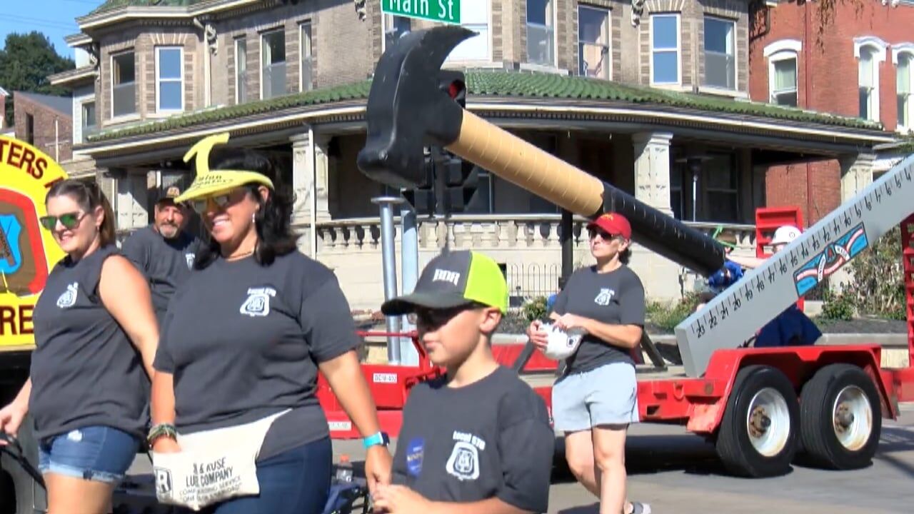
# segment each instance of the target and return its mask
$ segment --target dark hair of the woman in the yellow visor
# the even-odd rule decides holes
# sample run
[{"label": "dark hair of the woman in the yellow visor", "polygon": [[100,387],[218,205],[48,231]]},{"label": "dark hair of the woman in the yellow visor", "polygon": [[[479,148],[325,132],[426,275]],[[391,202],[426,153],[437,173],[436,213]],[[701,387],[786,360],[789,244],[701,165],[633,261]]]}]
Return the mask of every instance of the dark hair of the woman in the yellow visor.
[{"label": "dark hair of the woman in the yellow visor", "polygon": [[[277,256],[295,252],[298,248],[298,236],[292,231],[292,204],[294,195],[282,184],[276,163],[268,156],[246,148],[218,148],[210,154],[212,170],[245,170],[260,173],[273,182],[270,197],[260,197],[260,184],[252,182],[245,187],[260,204],[254,217],[254,229],[257,230],[257,246],[254,248],[254,259],[262,266],[269,266]],[[206,268],[219,255],[219,243],[207,234],[209,244],[202,252],[197,253],[194,267]]]}]

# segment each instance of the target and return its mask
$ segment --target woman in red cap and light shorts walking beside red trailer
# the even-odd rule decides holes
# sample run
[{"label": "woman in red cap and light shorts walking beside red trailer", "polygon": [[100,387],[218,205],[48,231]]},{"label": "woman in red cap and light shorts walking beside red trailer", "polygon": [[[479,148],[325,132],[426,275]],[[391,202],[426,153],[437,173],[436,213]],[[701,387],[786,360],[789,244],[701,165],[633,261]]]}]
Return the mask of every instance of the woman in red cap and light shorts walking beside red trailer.
[{"label": "woman in red cap and light shorts walking beside red trailer", "polygon": [[[555,326],[583,330],[578,349],[552,388],[552,415],[565,432],[569,468],[600,498],[600,513],[648,513],[625,501],[625,431],[638,422],[638,385],[632,348],[644,327],[644,288],[626,265],[632,226],[606,213],[587,227],[597,264],[569,277],[549,313]],[[547,347],[547,333],[534,321],[527,336]]]}]

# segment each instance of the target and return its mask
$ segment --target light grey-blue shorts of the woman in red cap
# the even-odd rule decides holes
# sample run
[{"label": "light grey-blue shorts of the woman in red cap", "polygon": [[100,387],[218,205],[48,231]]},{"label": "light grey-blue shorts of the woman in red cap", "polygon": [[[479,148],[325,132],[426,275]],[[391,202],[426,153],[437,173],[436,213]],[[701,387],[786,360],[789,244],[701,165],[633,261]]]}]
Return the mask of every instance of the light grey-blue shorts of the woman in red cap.
[{"label": "light grey-blue shorts of the woman in red cap", "polygon": [[563,432],[638,423],[634,366],[613,362],[558,379],[552,386],[552,418],[556,429]]}]

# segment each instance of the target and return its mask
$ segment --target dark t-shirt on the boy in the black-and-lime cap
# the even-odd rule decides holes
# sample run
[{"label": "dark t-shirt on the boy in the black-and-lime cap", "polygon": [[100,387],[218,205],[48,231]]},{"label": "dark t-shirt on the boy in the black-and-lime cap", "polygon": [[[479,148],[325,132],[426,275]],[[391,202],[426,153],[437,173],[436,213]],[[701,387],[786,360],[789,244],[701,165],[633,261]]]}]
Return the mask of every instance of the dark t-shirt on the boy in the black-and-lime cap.
[{"label": "dark t-shirt on the boy in the black-and-lime cap", "polygon": [[554,445],[546,403],[511,369],[461,388],[432,380],[409,392],[393,482],[432,501],[546,512]]}]

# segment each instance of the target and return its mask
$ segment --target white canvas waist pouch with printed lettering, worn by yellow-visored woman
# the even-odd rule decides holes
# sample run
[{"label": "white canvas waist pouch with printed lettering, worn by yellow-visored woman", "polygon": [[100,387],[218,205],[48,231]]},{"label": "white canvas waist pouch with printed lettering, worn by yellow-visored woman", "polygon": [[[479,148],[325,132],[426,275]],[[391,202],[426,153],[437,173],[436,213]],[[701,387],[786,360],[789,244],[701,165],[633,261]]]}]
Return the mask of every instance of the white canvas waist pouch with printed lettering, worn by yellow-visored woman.
[{"label": "white canvas waist pouch with printed lettering, worn by yellow-visored woman", "polygon": [[199,510],[260,493],[257,455],[278,412],[251,423],[177,436],[181,451],[153,456],[159,503]]}]

